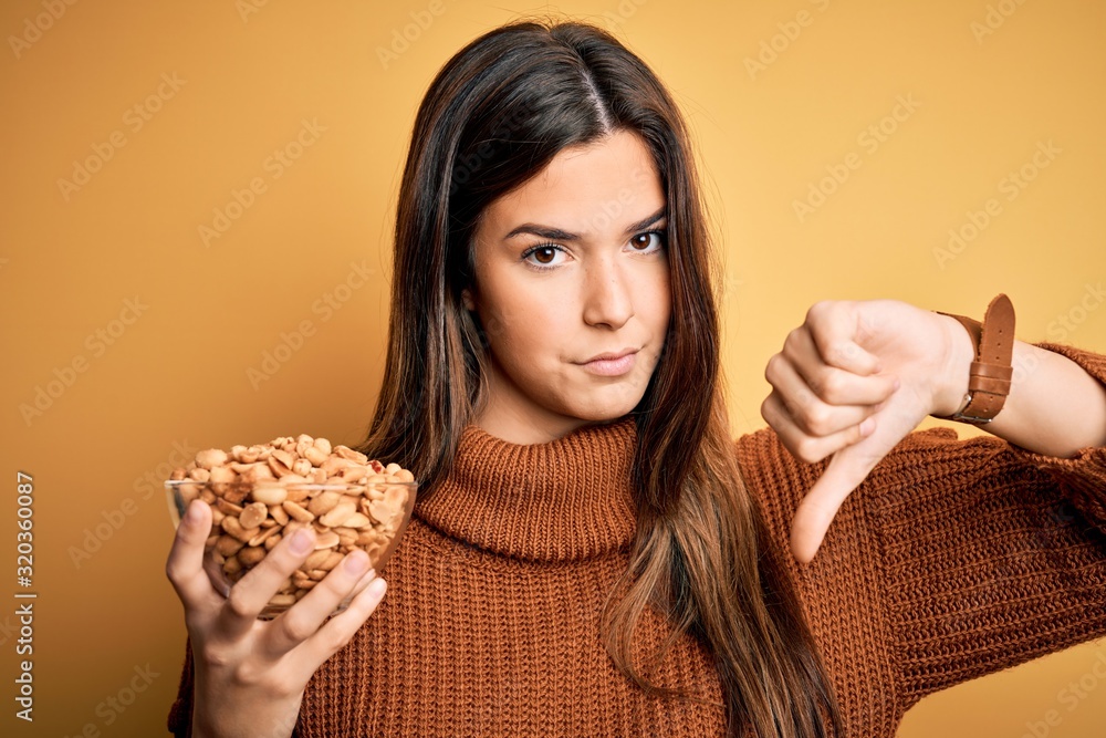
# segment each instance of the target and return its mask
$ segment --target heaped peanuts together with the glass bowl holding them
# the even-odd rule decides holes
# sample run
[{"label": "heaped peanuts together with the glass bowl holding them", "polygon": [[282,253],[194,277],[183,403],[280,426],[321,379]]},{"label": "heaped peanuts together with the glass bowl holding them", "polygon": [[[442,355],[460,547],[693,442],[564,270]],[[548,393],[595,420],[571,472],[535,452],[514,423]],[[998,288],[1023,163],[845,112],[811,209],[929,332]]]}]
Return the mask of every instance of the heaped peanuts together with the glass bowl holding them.
[{"label": "heaped peanuts together with the glass bowl holding them", "polygon": [[[283,436],[229,451],[209,448],[165,482],[174,527],[188,505],[211,507],[204,568],[223,596],[284,537],[313,528],[315,550],[260,613],[272,619],[310,592],[354,549],[380,572],[399,545],[415,508],[417,482],[398,464],[383,464],[326,438]],[[348,606],[342,602],[334,614]]]}]

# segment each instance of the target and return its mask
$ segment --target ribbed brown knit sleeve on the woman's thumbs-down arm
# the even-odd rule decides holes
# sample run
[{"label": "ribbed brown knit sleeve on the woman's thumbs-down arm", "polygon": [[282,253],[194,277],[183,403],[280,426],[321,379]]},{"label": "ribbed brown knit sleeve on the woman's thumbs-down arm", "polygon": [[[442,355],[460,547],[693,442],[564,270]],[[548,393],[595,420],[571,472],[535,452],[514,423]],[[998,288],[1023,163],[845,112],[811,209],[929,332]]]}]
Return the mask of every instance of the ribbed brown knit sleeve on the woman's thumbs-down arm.
[{"label": "ribbed brown knit sleeve on the woman's thumbs-down arm", "polygon": [[[1106,383],[1106,356],[1042,347]],[[864,506],[905,706],[1106,635],[1106,448],[1055,458],[942,428],[906,453],[925,474],[890,459]]]}]

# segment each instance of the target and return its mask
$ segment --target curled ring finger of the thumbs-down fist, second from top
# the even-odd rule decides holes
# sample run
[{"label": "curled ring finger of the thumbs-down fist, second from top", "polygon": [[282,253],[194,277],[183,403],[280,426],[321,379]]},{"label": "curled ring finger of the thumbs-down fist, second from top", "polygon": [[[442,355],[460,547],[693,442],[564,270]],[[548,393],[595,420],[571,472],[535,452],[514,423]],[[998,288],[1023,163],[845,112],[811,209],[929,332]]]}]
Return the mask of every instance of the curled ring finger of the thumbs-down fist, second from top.
[{"label": "curled ring finger of the thumbs-down fist, second from top", "polygon": [[[849,344],[842,351],[849,353],[852,346],[855,344]],[[859,346],[856,349],[864,351]],[[830,405],[875,405],[887,399],[898,386],[893,376],[854,373],[833,365],[822,355],[810,331],[792,331],[784,342],[782,353],[810,392]]]}]

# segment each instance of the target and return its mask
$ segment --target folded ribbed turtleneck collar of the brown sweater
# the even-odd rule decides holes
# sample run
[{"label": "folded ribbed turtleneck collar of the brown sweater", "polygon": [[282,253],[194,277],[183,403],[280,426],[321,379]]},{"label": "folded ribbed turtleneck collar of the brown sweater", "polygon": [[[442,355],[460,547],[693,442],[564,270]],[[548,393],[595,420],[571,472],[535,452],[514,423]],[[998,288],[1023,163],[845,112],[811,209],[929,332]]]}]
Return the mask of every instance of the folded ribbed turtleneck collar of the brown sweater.
[{"label": "folded ribbed turtleneck collar of the brown sweater", "polygon": [[633,418],[521,446],[469,425],[449,477],[415,516],[477,548],[530,561],[591,559],[634,538]]}]

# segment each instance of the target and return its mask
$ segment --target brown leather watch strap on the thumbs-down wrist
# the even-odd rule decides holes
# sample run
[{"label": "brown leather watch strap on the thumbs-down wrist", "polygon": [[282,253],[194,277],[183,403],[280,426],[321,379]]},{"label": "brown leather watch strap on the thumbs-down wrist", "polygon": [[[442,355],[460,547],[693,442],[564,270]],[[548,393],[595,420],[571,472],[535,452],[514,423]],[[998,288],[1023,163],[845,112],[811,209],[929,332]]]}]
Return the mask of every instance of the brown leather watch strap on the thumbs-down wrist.
[{"label": "brown leather watch strap on the thumbs-down wrist", "polygon": [[1010,394],[1010,380],[1014,370],[1014,306],[1005,294],[991,300],[983,315],[983,323],[963,315],[952,315],[964,326],[975,344],[975,361],[968,374],[968,394],[964,406],[948,420],[982,425],[990,423],[1002,409]]}]

